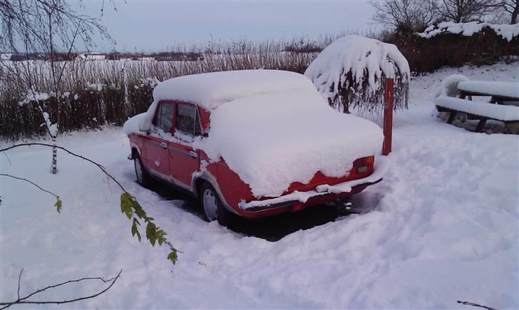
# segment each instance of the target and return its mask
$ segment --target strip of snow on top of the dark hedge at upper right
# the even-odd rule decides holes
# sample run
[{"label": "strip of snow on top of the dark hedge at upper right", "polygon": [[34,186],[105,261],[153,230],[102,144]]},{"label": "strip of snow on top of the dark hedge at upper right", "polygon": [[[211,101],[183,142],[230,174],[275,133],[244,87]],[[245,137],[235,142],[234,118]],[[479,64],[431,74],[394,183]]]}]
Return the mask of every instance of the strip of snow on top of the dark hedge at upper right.
[{"label": "strip of snow on top of the dark hedge at upper right", "polygon": [[501,36],[508,42],[512,41],[512,39],[516,36],[519,36],[519,24],[489,24],[479,23],[477,21],[472,21],[470,23],[453,23],[445,21],[438,25],[428,26],[425,31],[417,34],[422,38],[433,38],[433,36],[441,33],[454,33],[461,34],[462,36],[473,36],[474,33],[480,33],[483,31],[483,29],[486,28],[493,30],[495,34]]}]

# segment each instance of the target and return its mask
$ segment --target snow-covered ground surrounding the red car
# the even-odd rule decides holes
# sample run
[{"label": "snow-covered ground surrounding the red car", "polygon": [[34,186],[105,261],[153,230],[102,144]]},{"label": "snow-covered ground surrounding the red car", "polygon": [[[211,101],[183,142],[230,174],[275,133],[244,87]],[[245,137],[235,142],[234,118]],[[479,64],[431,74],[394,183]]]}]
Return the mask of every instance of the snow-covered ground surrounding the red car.
[{"label": "snow-covered ground surrounding the red car", "polygon": [[[0,300],[16,299],[22,268],[21,295],[123,269],[106,294],[67,308],[468,309],[459,299],[518,308],[519,136],[473,133],[431,117],[428,96],[452,73],[513,82],[519,75],[514,63],[413,78],[410,108],[395,115],[389,172],[354,200],[369,212],[277,242],[204,222],[184,202],[137,185],[120,128],[61,137],[61,145],[101,162],[170,233],[182,251],[175,267],[168,249],[131,237],[120,192],[96,167],[60,152],[54,176],[51,150],[18,148],[7,154],[11,163],[0,155],[2,173],[63,199],[58,215],[53,197],[0,178]],[[38,300],[99,288],[70,286]]]}]

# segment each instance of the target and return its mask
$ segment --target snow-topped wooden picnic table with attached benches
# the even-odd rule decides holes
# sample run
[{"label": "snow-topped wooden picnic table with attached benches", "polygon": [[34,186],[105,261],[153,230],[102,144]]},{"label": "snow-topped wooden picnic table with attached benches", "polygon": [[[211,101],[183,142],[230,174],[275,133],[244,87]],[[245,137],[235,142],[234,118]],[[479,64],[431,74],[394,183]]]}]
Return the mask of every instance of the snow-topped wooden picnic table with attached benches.
[{"label": "snow-topped wooden picnic table with attached benches", "polygon": [[[487,120],[498,120],[508,130],[519,133],[519,83],[487,81],[455,81],[448,85],[448,93],[438,95],[433,101],[438,112],[450,113],[447,123],[464,113],[468,119],[479,120],[476,131],[480,133]],[[473,96],[490,97],[490,103],[472,101]],[[468,100],[467,100],[468,99]]]}]

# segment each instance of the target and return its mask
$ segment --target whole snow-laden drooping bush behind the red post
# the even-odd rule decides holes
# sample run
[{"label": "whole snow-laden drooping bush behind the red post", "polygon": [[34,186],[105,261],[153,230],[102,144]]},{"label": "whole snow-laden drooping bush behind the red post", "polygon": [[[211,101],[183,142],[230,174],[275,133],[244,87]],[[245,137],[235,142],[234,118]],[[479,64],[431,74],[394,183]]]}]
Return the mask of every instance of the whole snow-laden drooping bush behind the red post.
[{"label": "whole snow-laden drooping bush behind the red post", "polygon": [[304,72],[338,110],[343,104],[373,113],[381,108],[384,78],[395,79],[395,107],[406,108],[411,75],[396,46],[363,36],[345,36],[324,48]]}]

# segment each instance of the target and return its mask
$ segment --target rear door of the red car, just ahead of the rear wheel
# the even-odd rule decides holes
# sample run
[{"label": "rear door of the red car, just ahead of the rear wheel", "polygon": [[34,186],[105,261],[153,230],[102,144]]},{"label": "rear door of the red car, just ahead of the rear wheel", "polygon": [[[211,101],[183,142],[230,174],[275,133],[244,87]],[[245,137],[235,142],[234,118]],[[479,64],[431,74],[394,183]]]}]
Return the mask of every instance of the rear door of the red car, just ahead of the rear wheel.
[{"label": "rear door of the red car, just ahead of the rear wheel", "polygon": [[201,135],[200,115],[196,105],[191,103],[175,105],[174,139],[169,146],[170,172],[175,181],[190,189],[192,174],[200,166],[199,154],[192,148],[192,141]]}]

